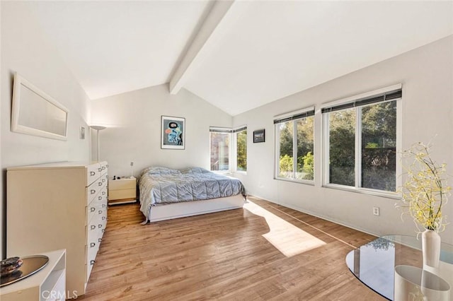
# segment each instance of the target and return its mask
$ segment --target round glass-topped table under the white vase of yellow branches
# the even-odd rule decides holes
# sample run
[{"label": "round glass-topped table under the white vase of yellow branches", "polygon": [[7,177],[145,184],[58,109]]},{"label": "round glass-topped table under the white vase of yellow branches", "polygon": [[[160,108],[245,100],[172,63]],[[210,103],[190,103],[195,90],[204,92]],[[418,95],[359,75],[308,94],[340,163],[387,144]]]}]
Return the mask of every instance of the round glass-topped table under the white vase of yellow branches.
[{"label": "round glass-topped table under the white vase of yellow branches", "polygon": [[[386,299],[394,300],[395,267],[412,266],[421,271],[421,249],[422,243],[417,237],[385,235],[349,252],[346,265],[362,283]],[[453,245],[442,242],[439,268],[425,267],[425,270],[453,287]]]}]

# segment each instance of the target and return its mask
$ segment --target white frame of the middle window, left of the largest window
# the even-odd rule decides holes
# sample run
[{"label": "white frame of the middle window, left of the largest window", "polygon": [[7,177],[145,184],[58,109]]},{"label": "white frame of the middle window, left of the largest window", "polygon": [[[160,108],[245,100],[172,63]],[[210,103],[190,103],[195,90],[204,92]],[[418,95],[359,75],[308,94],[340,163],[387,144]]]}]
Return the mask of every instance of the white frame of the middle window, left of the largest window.
[{"label": "white frame of the middle window, left of the largest window", "polygon": [[[292,158],[293,158],[293,175],[296,175],[297,172],[297,122],[299,120],[305,119],[307,117],[312,117],[313,118],[313,155],[314,155],[314,150],[315,150],[315,114],[310,114],[309,116],[305,117],[299,117],[299,118],[294,118],[292,117],[297,117],[300,114],[304,114],[306,112],[315,112],[314,107],[306,107],[301,110],[285,113],[285,114],[280,114],[274,117],[274,133],[275,133],[275,154],[274,154],[274,179],[279,180],[279,181],[287,181],[287,182],[294,182],[294,183],[301,183],[301,184],[308,184],[314,186],[315,180],[316,180],[316,170],[313,172],[313,179],[297,179],[296,177],[292,178],[286,178],[286,177],[279,177],[280,174],[280,131],[278,130],[279,124],[283,122],[288,122],[291,121],[293,122],[293,128],[292,128]],[[282,119],[290,119],[287,121],[283,122],[277,122],[277,120],[282,120]],[[296,158],[296,160],[294,160]],[[314,161],[316,162],[316,158],[314,158]]]}]

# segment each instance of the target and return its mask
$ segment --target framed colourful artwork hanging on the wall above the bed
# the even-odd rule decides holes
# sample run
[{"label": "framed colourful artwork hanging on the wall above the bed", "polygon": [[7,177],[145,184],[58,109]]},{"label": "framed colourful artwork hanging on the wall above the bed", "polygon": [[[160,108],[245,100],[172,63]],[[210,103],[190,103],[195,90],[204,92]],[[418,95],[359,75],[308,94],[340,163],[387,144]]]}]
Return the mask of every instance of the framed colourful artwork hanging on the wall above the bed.
[{"label": "framed colourful artwork hanging on the wall above the bed", "polygon": [[185,118],[161,116],[161,148],[185,149]]}]

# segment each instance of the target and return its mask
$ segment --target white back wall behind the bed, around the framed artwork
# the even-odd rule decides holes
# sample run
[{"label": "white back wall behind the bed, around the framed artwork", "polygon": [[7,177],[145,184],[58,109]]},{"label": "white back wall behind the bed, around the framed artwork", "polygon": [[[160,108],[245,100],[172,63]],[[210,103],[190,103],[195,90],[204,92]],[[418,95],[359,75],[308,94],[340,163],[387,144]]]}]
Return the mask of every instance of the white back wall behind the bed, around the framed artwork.
[{"label": "white back wall behind the bed, around the framed artwork", "polygon": [[[185,150],[161,149],[161,115],[185,118]],[[108,161],[110,177],[130,176],[131,161],[135,176],[150,165],[209,169],[210,126],[230,127],[233,122],[188,90],[171,95],[166,84],[93,100],[91,120],[108,127],[99,138],[100,159]]]}]

